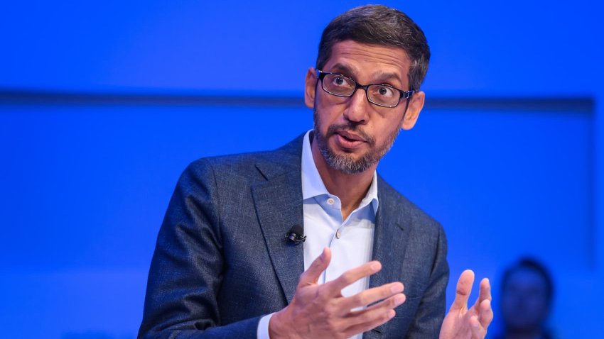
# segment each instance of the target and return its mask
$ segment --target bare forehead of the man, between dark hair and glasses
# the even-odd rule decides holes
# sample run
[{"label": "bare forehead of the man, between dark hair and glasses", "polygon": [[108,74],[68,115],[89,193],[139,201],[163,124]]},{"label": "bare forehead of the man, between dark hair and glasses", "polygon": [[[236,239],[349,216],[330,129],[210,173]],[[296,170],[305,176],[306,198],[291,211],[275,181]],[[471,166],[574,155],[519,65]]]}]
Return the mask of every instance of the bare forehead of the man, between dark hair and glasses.
[{"label": "bare forehead of the man, between dark hair and glasses", "polygon": [[401,84],[407,84],[410,66],[409,55],[402,48],[344,40],[333,45],[323,70],[335,71],[334,68],[344,67],[360,82],[389,74],[399,78]]}]

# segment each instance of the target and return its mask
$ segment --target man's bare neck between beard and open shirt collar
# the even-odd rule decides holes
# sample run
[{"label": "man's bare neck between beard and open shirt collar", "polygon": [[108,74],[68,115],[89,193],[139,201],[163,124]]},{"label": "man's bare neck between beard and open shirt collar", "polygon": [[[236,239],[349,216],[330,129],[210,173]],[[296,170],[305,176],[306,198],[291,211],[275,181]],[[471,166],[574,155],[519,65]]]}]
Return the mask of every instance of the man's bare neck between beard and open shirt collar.
[{"label": "man's bare neck between beard and open shirt collar", "polygon": [[330,194],[338,196],[342,202],[342,218],[345,220],[367,195],[377,164],[364,172],[348,174],[330,167],[325,162],[317,143],[311,144],[311,150],[325,188]]}]

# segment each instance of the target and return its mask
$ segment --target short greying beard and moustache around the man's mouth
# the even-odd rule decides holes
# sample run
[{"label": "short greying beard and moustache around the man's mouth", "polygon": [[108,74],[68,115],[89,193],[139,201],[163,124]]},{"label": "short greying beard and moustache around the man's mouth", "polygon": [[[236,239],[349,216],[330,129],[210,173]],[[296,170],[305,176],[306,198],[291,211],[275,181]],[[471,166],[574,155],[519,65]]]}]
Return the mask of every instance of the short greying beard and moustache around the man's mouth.
[{"label": "short greying beard and moustache around the man's mouth", "polygon": [[[355,173],[365,172],[366,170],[369,170],[370,167],[377,164],[377,162],[379,162],[379,160],[382,159],[382,157],[384,157],[384,155],[386,155],[386,153],[390,150],[390,148],[392,148],[392,144],[394,144],[394,140],[397,139],[397,136],[399,135],[399,132],[401,130],[400,128],[395,129],[392,133],[390,133],[390,135],[388,135],[388,138],[386,139],[386,143],[384,143],[384,145],[382,145],[381,148],[376,149],[375,148],[375,139],[372,138],[371,135],[368,135],[367,133],[365,133],[365,131],[360,129],[358,127],[359,126],[358,124],[348,123],[347,125],[329,126],[328,131],[327,131],[327,138],[330,137],[330,135],[335,134],[335,132],[338,130],[348,130],[350,132],[361,135],[362,138],[364,138],[367,141],[367,143],[370,145],[371,149],[368,152],[366,152],[364,155],[362,155],[362,157],[355,160],[355,158],[353,158],[350,155],[347,155],[347,154],[338,155],[338,154],[335,154],[335,152],[333,152],[332,150],[330,150],[330,148],[327,145],[327,140],[326,140],[327,138],[325,138],[325,136],[320,133],[320,126],[318,125],[316,109],[313,110],[313,120],[314,120],[314,124],[313,124],[314,138],[317,141],[317,146],[321,152],[321,155],[323,155],[323,159],[325,159],[325,162],[327,162],[327,165],[332,167],[334,170],[338,170],[338,171],[344,172],[346,174],[355,174]],[[399,123],[399,126],[400,126],[400,123]]]}]

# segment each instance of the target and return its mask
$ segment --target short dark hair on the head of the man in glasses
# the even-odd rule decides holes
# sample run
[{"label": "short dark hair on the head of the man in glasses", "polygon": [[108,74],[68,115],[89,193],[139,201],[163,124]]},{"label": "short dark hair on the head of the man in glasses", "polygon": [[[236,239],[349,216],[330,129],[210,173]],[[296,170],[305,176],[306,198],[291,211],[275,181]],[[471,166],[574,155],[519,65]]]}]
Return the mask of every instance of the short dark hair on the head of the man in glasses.
[{"label": "short dark hair on the head of the man in glasses", "polygon": [[418,90],[428,72],[430,48],[424,32],[405,13],[382,5],[351,9],[333,19],[321,35],[317,69],[322,70],[335,43],[352,40],[369,45],[402,48],[409,58],[409,86]]}]

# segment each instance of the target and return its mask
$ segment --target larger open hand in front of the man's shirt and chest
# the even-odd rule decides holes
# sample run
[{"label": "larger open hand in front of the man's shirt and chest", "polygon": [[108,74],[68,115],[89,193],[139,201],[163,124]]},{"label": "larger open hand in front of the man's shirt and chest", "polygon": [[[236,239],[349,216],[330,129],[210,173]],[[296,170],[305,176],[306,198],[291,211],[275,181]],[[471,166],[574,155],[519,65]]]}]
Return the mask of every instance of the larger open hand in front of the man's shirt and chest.
[{"label": "larger open hand in front of the man's shirt and chest", "polygon": [[[335,280],[318,284],[320,274],[327,269],[330,260],[331,252],[325,248],[300,276],[291,303],[271,316],[271,339],[350,338],[386,323],[394,317],[394,308],[404,303],[405,295],[401,293],[404,287],[400,282],[366,289],[354,296],[342,295],[343,288],[379,272],[382,264],[377,261],[349,269]],[[365,309],[352,311],[370,304]]]}]

